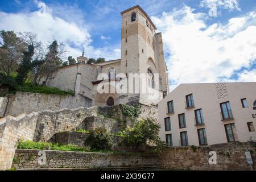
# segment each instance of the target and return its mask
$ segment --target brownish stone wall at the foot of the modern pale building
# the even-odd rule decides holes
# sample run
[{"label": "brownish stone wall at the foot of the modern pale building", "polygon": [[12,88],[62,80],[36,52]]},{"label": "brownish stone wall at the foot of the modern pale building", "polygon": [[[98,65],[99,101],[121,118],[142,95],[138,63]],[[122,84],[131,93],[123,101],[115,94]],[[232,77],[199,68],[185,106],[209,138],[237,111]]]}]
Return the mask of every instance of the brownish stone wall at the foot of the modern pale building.
[{"label": "brownish stone wall at the foot of the modern pale building", "polygon": [[[256,163],[256,143],[224,143],[205,147],[168,147],[160,155],[160,164],[167,169],[190,170],[250,170],[245,151],[251,153]],[[217,164],[210,165],[209,152],[216,151]]]}]

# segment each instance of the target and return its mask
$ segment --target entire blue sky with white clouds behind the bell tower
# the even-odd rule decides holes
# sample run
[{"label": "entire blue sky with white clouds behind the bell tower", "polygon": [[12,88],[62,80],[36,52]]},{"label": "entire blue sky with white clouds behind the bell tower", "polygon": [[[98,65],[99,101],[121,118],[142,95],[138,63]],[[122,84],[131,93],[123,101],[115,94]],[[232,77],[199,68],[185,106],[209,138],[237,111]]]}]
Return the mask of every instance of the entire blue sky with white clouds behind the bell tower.
[{"label": "entire blue sky with white clouds behind the bell tower", "polygon": [[163,34],[171,89],[185,82],[256,81],[255,0],[0,0],[0,29],[32,31],[45,44],[59,40],[73,57],[84,48],[88,57],[118,59],[120,12],[134,5]]}]

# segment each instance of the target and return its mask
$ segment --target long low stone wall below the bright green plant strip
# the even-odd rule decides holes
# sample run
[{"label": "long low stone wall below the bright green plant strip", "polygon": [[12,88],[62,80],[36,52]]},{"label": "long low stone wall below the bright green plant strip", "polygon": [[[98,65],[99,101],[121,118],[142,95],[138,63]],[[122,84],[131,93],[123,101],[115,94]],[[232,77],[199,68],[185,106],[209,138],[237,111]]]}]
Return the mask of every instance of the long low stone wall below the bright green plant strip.
[{"label": "long low stone wall below the bright green plant strip", "polygon": [[38,164],[40,150],[16,150],[13,168],[102,168],[158,166],[158,155],[92,152],[46,152],[46,164]]}]

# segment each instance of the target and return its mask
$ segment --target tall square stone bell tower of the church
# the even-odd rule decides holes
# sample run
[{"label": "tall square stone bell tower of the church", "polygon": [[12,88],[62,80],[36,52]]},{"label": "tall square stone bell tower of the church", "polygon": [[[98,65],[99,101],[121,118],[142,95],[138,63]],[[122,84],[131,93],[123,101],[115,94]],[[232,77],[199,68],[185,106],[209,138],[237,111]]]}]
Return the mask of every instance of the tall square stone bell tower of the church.
[{"label": "tall square stone bell tower of the church", "polygon": [[[121,72],[129,73],[159,73],[152,88],[157,88],[160,94],[168,93],[167,67],[164,61],[162,34],[156,33],[156,26],[139,6],[131,7],[121,12]],[[141,85],[140,85],[141,86]],[[160,99],[160,98],[159,98]],[[139,102],[147,102],[140,94]],[[147,102],[149,104],[150,102]],[[157,104],[152,101],[150,104]]]}]

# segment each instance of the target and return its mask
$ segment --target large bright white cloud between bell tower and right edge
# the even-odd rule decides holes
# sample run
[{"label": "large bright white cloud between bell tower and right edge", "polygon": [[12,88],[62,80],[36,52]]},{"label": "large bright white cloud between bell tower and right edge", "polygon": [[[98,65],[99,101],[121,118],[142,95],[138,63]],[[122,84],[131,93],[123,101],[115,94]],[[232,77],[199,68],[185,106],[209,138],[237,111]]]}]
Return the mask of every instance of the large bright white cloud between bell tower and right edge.
[{"label": "large bright white cloud between bell tower and right edge", "polygon": [[[234,71],[249,68],[256,59],[255,13],[208,26],[204,14],[180,10],[152,17],[162,31],[171,89],[180,83],[232,80]],[[255,71],[238,73],[242,81],[256,81]],[[233,80],[234,81],[234,80]]]}]

